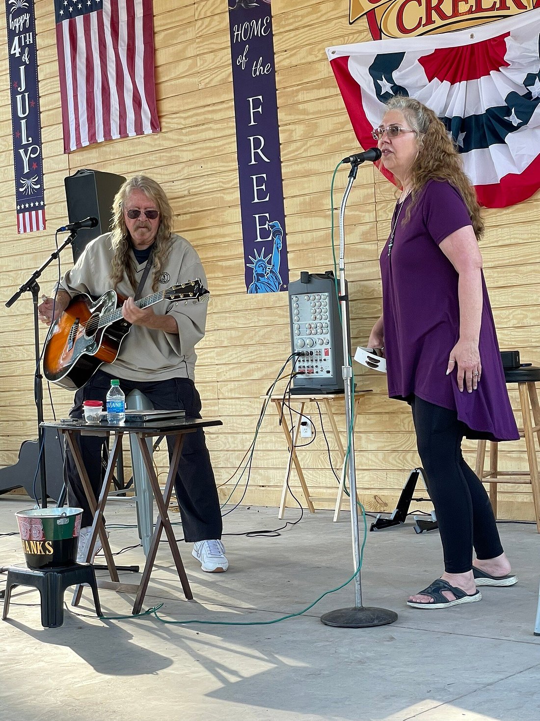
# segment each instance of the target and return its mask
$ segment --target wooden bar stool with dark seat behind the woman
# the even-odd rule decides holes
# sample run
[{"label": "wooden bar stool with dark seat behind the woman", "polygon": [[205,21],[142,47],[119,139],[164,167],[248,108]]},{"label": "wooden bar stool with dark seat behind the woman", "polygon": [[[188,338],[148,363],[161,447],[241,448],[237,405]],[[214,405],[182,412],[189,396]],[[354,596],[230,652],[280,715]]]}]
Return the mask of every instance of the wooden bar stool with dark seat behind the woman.
[{"label": "wooden bar stool with dark seat behind the woman", "polygon": [[490,501],[497,518],[497,484],[498,483],[526,483],[531,485],[534,501],[534,518],[536,528],[540,533],[540,479],[538,461],[536,459],[536,445],[534,434],[538,438],[540,448],[540,405],[536,393],[536,381],[540,381],[540,368],[532,366],[505,369],[507,383],[517,383],[519,403],[523,417],[523,428],[519,429],[521,438],[525,438],[527,448],[527,471],[500,471],[498,469],[498,443],[490,441],[490,467],[485,470],[486,441],[478,441],[476,467],[474,472],[482,481],[490,484]]}]

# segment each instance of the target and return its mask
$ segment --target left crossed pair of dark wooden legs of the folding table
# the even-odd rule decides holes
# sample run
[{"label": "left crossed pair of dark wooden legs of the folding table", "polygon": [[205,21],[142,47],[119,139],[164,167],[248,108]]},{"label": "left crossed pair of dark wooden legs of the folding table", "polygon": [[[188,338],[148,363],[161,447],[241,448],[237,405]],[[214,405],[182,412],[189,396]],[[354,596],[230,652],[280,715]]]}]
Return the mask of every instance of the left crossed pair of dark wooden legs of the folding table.
[{"label": "left crossed pair of dark wooden legs of the folding table", "polygon": [[[94,515],[94,521],[92,521],[92,530],[90,534],[89,550],[85,560],[86,562],[89,562],[89,559],[91,558],[91,552],[93,551],[94,544],[96,543],[97,534],[99,533],[99,538],[102,541],[103,552],[107,561],[107,568],[109,569],[109,575],[111,577],[111,580],[119,582],[120,578],[118,576],[117,567],[114,564],[111,547],[109,546],[109,539],[107,539],[107,532],[105,531],[103,523],[103,510],[105,507],[105,503],[107,502],[107,494],[109,493],[109,488],[111,487],[112,477],[114,474],[114,466],[116,466],[118,455],[120,454],[120,450],[122,449],[122,433],[114,436],[112,451],[109,454],[109,461],[107,463],[107,471],[105,472],[102,490],[99,494],[99,500],[97,503],[88,474],[86,473],[86,468],[84,467],[81,451],[76,442],[76,438],[74,437],[74,433],[78,433],[78,431],[66,431],[66,438],[68,439],[68,444],[71,448],[71,453],[73,454],[73,461],[75,461],[79,477],[81,478],[81,484],[84,488],[86,500],[88,500],[90,510]],[[83,587],[81,585],[78,585],[76,587],[75,593],[73,594],[73,600],[71,601],[73,606],[78,606],[78,603],[81,601],[82,592]]]}]

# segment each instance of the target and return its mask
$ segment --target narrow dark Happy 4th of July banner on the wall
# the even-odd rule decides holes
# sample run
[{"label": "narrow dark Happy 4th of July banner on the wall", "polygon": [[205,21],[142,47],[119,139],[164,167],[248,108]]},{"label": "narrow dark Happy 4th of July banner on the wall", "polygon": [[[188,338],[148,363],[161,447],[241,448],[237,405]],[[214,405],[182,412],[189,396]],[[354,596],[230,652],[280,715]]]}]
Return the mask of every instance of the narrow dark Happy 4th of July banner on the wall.
[{"label": "narrow dark Happy 4th of July banner on the wall", "polygon": [[34,0],[6,0],[17,229],[45,230]]}]

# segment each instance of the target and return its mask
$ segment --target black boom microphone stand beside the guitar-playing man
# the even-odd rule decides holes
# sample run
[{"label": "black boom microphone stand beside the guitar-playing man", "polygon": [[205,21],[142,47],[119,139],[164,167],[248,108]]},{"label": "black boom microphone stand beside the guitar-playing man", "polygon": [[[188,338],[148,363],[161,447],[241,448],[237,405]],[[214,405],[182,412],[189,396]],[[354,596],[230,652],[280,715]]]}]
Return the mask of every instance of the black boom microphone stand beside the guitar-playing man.
[{"label": "black boom microphone stand beside the guitar-playing man", "polygon": [[34,397],[37,408],[37,438],[38,448],[40,453],[40,494],[41,494],[41,506],[47,508],[47,471],[45,468],[45,429],[42,428],[43,423],[43,376],[41,374],[41,352],[40,352],[40,327],[39,319],[37,317],[37,305],[39,302],[40,286],[37,283],[37,278],[40,277],[43,270],[56,260],[63,249],[73,243],[76,239],[77,231],[72,230],[66,241],[58,249],[55,250],[48,260],[43,265],[30,275],[30,278],[26,280],[19,288],[17,293],[14,293],[9,301],[6,302],[6,308],[10,308],[15,301],[17,301],[22,293],[32,293],[32,304],[34,306],[34,346],[35,346],[35,376],[34,376]]}]

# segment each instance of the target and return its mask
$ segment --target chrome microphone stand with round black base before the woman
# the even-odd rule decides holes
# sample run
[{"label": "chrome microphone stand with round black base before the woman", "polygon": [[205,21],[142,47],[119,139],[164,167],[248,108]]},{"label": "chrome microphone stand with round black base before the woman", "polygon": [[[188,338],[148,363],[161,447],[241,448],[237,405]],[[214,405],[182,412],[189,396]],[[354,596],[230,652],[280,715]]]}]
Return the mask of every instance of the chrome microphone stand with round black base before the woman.
[{"label": "chrome microphone stand with round black base before the woman", "polygon": [[348,438],[348,462],[346,456],[346,464],[348,466],[348,487],[351,500],[351,531],[353,541],[353,560],[354,560],[354,606],[345,609],[336,609],[323,614],[320,620],[327,626],[338,626],[341,628],[366,628],[372,626],[384,626],[392,624],[397,620],[395,611],[387,609],[377,609],[362,605],[362,585],[361,585],[361,550],[360,550],[360,534],[358,527],[358,505],[356,503],[356,464],[354,459],[354,433],[352,418],[354,412],[354,387],[353,387],[353,371],[351,366],[351,343],[348,337],[348,296],[346,291],[345,280],[345,206],[348,194],[361,160],[351,164],[351,172],[348,174],[348,183],[343,193],[341,207],[339,209],[339,303],[341,307],[341,328],[343,332],[343,383],[345,386],[345,420]]}]

